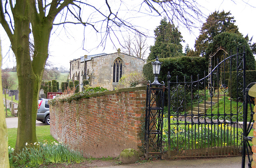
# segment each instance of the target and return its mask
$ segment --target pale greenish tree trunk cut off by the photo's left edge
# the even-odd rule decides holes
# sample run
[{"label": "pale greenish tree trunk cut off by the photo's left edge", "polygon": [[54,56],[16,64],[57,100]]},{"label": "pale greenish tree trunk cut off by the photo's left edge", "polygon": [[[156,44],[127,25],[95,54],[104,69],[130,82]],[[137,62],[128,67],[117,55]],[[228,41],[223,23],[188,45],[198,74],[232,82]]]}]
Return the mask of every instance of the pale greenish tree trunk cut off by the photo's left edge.
[{"label": "pale greenish tree trunk cut off by the photo's left edge", "polygon": [[[0,46],[1,47],[1,46]],[[0,66],[2,64],[2,55],[0,48]],[[0,90],[2,90],[2,72],[0,71]],[[0,94],[0,100],[3,100],[3,94]],[[0,167],[9,168],[8,158],[8,131],[4,115],[4,104],[0,103]]]}]

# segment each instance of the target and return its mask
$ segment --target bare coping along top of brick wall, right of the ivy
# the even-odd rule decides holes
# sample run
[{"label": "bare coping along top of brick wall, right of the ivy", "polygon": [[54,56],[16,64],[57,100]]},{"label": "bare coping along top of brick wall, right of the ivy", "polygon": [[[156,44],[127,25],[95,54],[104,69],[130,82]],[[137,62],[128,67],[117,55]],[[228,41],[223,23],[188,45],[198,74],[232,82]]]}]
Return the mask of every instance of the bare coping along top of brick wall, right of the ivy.
[{"label": "bare coping along top of brick wall, right of the ivy", "polygon": [[119,92],[130,92],[130,91],[136,91],[136,90],[146,90],[147,86],[137,86],[137,87],[132,87],[132,88],[122,88],[118,90],[111,90],[111,91],[106,91],[106,92],[101,92],[101,93],[95,93],[91,94],[88,96],[82,96],[81,98],[89,98],[89,97],[95,97],[95,96],[103,96],[107,94],[115,94]]}]

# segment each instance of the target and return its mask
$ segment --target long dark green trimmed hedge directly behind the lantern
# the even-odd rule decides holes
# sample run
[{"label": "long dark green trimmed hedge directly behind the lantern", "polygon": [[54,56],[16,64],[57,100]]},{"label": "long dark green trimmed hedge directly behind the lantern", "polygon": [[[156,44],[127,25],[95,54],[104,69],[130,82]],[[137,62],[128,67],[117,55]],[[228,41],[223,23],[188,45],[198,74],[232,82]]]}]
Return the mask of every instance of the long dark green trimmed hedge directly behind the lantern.
[{"label": "long dark green trimmed hedge directly behind the lantern", "polygon": [[[152,60],[151,62],[154,62]],[[178,76],[178,82],[184,82],[184,76],[186,76],[186,81],[197,80],[199,78],[204,78],[204,71],[208,71],[208,64],[206,59],[203,57],[175,57],[175,58],[160,58],[162,66],[160,69],[160,74],[158,76],[158,81],[164,81],[167,84],[167,73],[170,72],[171,82],[176,82],[176,76]],[[154,74],[152,70],[152,63],[148,62],[143,67],[143,75],[150,82],[154,81]]]}]

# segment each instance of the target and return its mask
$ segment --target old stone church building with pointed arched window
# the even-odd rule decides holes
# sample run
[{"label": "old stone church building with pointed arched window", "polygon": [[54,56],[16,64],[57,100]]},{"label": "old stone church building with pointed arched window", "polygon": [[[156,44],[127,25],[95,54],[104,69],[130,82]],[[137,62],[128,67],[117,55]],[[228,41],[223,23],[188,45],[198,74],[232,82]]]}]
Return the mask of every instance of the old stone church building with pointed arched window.
[{"label": "old stone church building with pointed arched window", "polygon": [[143,65],[144,60],[120,52],[82,56],[70,61],[70,79],[80,84],[88,79],[92,87],[114,90],[122,75],[134,71],[142,74]]}]

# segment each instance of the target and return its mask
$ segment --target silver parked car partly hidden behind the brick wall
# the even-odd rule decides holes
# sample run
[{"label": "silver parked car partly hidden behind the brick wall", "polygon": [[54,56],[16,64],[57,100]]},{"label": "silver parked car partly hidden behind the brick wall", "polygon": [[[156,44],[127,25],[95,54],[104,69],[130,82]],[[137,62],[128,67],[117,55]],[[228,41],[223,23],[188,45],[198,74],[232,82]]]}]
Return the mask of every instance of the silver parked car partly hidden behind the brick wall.
[{"label": "silver parked car partly hidden behind the brick wall", "polygon": [[45,122],[45,124],[50,125],[50,109],[48,104],[49,99],[40,98],[38,100],[38,110],[36,120]]}]

